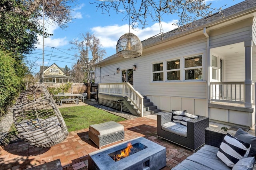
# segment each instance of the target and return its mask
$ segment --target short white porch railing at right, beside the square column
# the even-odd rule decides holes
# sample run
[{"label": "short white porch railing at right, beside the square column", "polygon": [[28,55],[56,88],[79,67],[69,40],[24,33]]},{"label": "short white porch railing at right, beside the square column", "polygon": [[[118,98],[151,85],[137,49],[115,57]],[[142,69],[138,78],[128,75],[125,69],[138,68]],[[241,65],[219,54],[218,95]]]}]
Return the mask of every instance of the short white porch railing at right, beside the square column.
[{"label": "short white porch railing at right, beside the square column", "polygon": [[210,82],[210,100],[244,104],[244,82]]}]

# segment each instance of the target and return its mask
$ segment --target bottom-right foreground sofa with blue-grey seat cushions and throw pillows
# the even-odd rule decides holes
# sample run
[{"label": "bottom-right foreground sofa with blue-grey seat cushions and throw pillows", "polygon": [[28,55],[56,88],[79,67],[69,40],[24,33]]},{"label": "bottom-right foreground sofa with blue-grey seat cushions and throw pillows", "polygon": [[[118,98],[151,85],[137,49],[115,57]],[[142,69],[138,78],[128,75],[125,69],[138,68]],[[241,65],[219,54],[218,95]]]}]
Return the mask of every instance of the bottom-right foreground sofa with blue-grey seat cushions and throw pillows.
[{"label": "bottom-right foreground sofa with blue-grey seat cushions and throw pillows", "polygon": [[[234,137],[241,143],[234,145],[233,142],[238,141]],[[253,170],[254,156],[256,156],[256,137],[246,133],[241,128],[236,131],[234,137],[230,137],[224,131],[206,128],[205,145],[172,170]],[[246,152],[239,152],[244,153],[244,155],[238,155],[237,147],[241,147],[241,145],[244,147],[246,143],[249,143],[250,147]]]}]

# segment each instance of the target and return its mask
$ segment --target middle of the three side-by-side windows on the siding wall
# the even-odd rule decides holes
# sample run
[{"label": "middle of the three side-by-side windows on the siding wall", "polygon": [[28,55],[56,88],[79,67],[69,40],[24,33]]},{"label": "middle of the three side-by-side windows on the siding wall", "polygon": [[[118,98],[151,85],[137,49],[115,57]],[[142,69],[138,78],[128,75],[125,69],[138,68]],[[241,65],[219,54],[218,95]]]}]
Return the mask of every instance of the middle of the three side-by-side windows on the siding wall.
[{"label": "middle of the three side-by-side windows on the siding wall", "polygon": [[167,61],[167,80],[180,80],[180,60]]}]

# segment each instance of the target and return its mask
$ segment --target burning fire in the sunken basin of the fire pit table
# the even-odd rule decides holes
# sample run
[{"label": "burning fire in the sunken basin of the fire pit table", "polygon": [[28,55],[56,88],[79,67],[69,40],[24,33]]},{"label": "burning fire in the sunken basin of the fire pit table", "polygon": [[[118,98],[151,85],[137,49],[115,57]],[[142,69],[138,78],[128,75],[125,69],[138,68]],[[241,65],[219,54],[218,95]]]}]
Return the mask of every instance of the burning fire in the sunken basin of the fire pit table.
[{"label": "burning fire in the sunken basin of the fire pit table", "polygon": [[114,161],[121,160],[122,158],[125,158],[127,156],[132,155],[136,152],[139,152],[140,150],[146,149],[147,147],[145,145],[142,145],[141,143],[135,143],[131,144],[130,142],[127,144],[127,147],[125,149],[118,150],[116,152],[108,154]]}]

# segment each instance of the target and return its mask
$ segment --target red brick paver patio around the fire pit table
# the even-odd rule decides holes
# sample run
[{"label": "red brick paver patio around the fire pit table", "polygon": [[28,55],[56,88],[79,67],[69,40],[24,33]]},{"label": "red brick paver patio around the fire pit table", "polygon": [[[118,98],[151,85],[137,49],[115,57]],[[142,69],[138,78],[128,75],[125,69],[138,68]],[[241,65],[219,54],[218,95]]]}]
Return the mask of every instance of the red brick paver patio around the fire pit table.
[{"label": "red brick paver patio around the fire pit table", "polygon": [[[155,119],[139,117],[118,123],[124,125],[125,141],[145,137],[166,147],[166,167],[163,170],[171,169],[192,154],[191,150],[156,138]],[[117,143],[122,141],[111,145]],[[0,170],[23,170],[56,159],[60,159],[63,170],[87,170],[88,153],[96,150],[99,150],[98,147],[88,139],[88,129],[70,132],[65,141],[50,149],[32,147],[18,141],[0,147]]]}]

